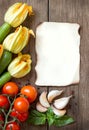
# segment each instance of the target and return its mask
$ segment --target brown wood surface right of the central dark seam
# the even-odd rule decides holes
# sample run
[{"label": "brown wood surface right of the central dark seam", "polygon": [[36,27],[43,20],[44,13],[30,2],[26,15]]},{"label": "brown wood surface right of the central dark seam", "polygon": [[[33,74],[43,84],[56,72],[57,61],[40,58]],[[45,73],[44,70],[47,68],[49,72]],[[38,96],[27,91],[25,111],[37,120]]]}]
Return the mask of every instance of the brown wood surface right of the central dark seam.
[{"label": "brown wood surface right of the central dark seam", "polygon": [[[76,22],[81,26],[81,69],[80,83],[63,87],[66,95],[73,92],[69,114],[75,123],[63,128],[50,127],[50,130],[88,130],[89,129],[89,1],[88,0],[49,0],[49,21]],[[59,87],[50,87],[51,89]],[[62,88],[62,87],[61,87]]]}]

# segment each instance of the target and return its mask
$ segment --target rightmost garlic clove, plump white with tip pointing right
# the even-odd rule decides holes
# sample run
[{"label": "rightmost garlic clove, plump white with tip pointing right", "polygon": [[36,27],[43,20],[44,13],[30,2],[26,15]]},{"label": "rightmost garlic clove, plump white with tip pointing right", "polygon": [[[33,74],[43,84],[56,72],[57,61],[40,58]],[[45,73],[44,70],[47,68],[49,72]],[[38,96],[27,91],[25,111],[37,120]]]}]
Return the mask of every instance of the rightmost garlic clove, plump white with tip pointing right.
[{"label": "rightmost garlic clove, plump white with tip pointing right", "polygon": [[60,98],[54,101],[53,105],[57,108],[57,109],[64,109],[67,104],[69,103],[70,98],[72,97],[64,97],[64,98]]}]

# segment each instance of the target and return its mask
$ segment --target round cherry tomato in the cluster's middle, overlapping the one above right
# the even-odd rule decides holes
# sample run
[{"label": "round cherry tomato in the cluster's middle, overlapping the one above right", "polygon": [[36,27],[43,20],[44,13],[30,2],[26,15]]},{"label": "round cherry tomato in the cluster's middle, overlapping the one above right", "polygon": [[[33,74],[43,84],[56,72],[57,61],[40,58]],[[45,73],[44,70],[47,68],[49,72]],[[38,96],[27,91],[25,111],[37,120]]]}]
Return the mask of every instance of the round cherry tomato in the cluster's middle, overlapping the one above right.
[{"label": "round cherry tomato in the cluster's middle, overlapping the one above right", "polygon": [[24,97],[18,97],[14,102],[14,108],[20,113],[27,112],[29,109],[29,102]]}]

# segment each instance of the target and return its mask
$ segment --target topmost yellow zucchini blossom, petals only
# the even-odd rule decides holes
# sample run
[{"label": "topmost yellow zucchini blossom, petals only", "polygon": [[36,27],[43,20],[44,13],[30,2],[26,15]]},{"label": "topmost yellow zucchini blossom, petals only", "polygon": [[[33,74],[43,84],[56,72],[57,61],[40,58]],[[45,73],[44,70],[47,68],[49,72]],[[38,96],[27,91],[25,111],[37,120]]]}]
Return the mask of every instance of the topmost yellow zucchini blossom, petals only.
[{"label": "topmost yellow zucchini blossom, petals only", "polygon": [[4,20],[12,27],[17,27],[26,19],[27,15],[32,15],[32,6],[26,3],[15,3],[7,10]]}]

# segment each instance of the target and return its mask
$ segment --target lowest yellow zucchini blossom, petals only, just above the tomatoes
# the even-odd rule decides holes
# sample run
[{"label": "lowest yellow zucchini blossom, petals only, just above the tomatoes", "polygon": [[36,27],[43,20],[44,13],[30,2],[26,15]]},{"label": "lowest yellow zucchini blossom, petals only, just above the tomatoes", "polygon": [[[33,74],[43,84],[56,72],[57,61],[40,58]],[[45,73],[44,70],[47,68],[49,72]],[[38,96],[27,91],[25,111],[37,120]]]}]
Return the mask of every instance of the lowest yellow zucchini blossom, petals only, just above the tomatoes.
[{"label": "lowest yellow zucchini blossom, petals only, just above the tomatoes", "polygon": [[31,56],[21,53],[8,66],[8,72],[12,77],[21,78],[28,74],[31,70]]}]

